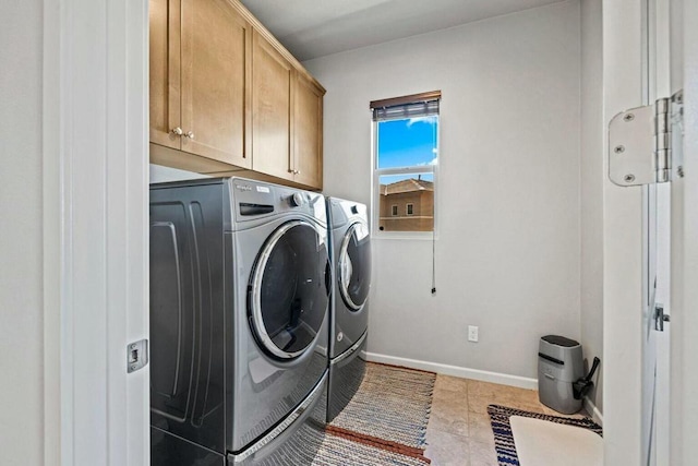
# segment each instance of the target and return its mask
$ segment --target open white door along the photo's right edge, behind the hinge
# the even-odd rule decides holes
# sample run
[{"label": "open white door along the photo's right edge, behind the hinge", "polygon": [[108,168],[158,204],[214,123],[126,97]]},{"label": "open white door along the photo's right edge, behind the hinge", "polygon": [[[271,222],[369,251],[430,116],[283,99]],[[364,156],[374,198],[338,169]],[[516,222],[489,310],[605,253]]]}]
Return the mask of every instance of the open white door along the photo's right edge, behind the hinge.
[{"label": "open white door along the photo's right edge, behind the hinge", "polygon": [[[698,83],[697,2],[683,0],[650,1],[650,97],[683,93],[682,119],[674,108],[672,136],[672,182],[655,187],[650,193],[648,214],[648,274],[657,282],[655,302],[662,302],[664,313],[672,314],[672,324],[655,322],[663,332],[652,332],[652,319],[646,313],[643,353],[643,425],[649,427],[649,438],[643,437],[643,458],[649,465],[695,464],[696,435],[696,312],[698,302],[698,177],[691,170],[698,148],[698,110],[696,91]],[[652,49],[652,45],[654,48]],[[653,70],[651,67],[654,67]],[[652,74],[653,72],[653,74]],[[693,87],[693,88],[691,88]],[[693,172],[691,172],[693,171]],[[651,198],[654,196],[654,206]],[[654,207],[654,208],[652,208]],[[654,224],[654,220],[655,224]],[[654,225],[653,225],[654,224]],[[655,234],[655,239],[652,235]],[[671,247],[667,247],[671,244]],[[654,261],[654,262],[653,262]],[[652,265],[653,262],[653,265]],[[653,268],[654,266],[654,268]],[[671,286],[669,277],[671,275]],[[651,284],[648,282],[648,290]],[[651,294],[648,295],[648,311]],[[660,316],[653,315],[657,319]],[[670,337],[671,328],[671,337]],[[669,355],[671,348],[671,356]],[[654,363],[654,371],[652,371]],[[654,383],[651,383],[653,379]]]}]

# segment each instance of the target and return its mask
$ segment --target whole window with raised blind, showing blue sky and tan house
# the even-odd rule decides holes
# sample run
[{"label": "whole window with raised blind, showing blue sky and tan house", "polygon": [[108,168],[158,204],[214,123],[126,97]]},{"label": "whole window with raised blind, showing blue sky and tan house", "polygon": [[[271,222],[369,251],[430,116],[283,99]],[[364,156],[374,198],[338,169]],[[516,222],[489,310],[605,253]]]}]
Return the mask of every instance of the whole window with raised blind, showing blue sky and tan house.
[{"label": "whole window with raised blind, showing blue sky and tan house", "polygon": [[436,91],[371,103],[377,236],[432,237],[440,101]]}]

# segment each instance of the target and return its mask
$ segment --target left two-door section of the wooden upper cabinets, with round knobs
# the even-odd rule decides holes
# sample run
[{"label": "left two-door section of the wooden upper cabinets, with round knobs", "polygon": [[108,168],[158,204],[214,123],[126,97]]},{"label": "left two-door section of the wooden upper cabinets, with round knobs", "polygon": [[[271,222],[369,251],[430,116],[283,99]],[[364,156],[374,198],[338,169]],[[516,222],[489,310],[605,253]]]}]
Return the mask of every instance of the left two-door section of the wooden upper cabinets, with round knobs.
[{"label": "left two-door section of the wooden upper cabinets, with round knobs", "polygon": [[151,0],[151,142],[252,166],[251,33],[225,0]]}]

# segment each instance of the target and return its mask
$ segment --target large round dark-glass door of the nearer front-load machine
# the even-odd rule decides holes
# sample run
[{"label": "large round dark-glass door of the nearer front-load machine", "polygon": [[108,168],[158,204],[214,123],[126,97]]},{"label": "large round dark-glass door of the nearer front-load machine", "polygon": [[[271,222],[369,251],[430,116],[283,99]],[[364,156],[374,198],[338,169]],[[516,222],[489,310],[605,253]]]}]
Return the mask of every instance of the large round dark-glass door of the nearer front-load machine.
[{"label": "large round dark-glass door of the nearer front-load machine", "polygon": [[329,296],[327,234],[303,220],[277,228],[257,256],[248,308],[262,348],[277,359],[302,355],[317,337]]}]

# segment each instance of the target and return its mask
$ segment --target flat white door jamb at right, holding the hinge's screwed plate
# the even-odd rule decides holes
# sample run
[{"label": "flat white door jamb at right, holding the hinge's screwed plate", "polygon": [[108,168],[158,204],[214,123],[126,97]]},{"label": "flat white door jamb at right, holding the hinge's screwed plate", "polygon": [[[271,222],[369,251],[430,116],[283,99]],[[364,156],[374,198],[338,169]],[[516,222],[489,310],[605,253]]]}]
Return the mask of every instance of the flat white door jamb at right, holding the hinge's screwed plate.
[{"label": "flat white door jamb at right, holding the hinge's screwed plate", "polygon": [[603,2],[604,464],[640,464],[642,190],[613,184],[607,122],[642,105],[642,2]]}]

